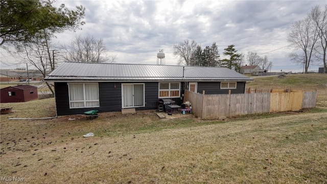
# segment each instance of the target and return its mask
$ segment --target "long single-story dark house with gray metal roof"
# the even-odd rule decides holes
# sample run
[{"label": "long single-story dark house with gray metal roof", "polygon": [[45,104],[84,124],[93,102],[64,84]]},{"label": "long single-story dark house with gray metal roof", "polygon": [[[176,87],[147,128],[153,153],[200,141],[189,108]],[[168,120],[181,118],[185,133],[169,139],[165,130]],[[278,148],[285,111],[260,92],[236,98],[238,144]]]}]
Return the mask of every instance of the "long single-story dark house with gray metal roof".
[{"label": "long single-story dark house with gray metal roof", "polygon": [[243,94],[246,82],[253,79],[224,67],[64,62],[44,80],[54,82],[61,116],[88,110],[157,109],[162,99],[181,104],[184,89]]}]

